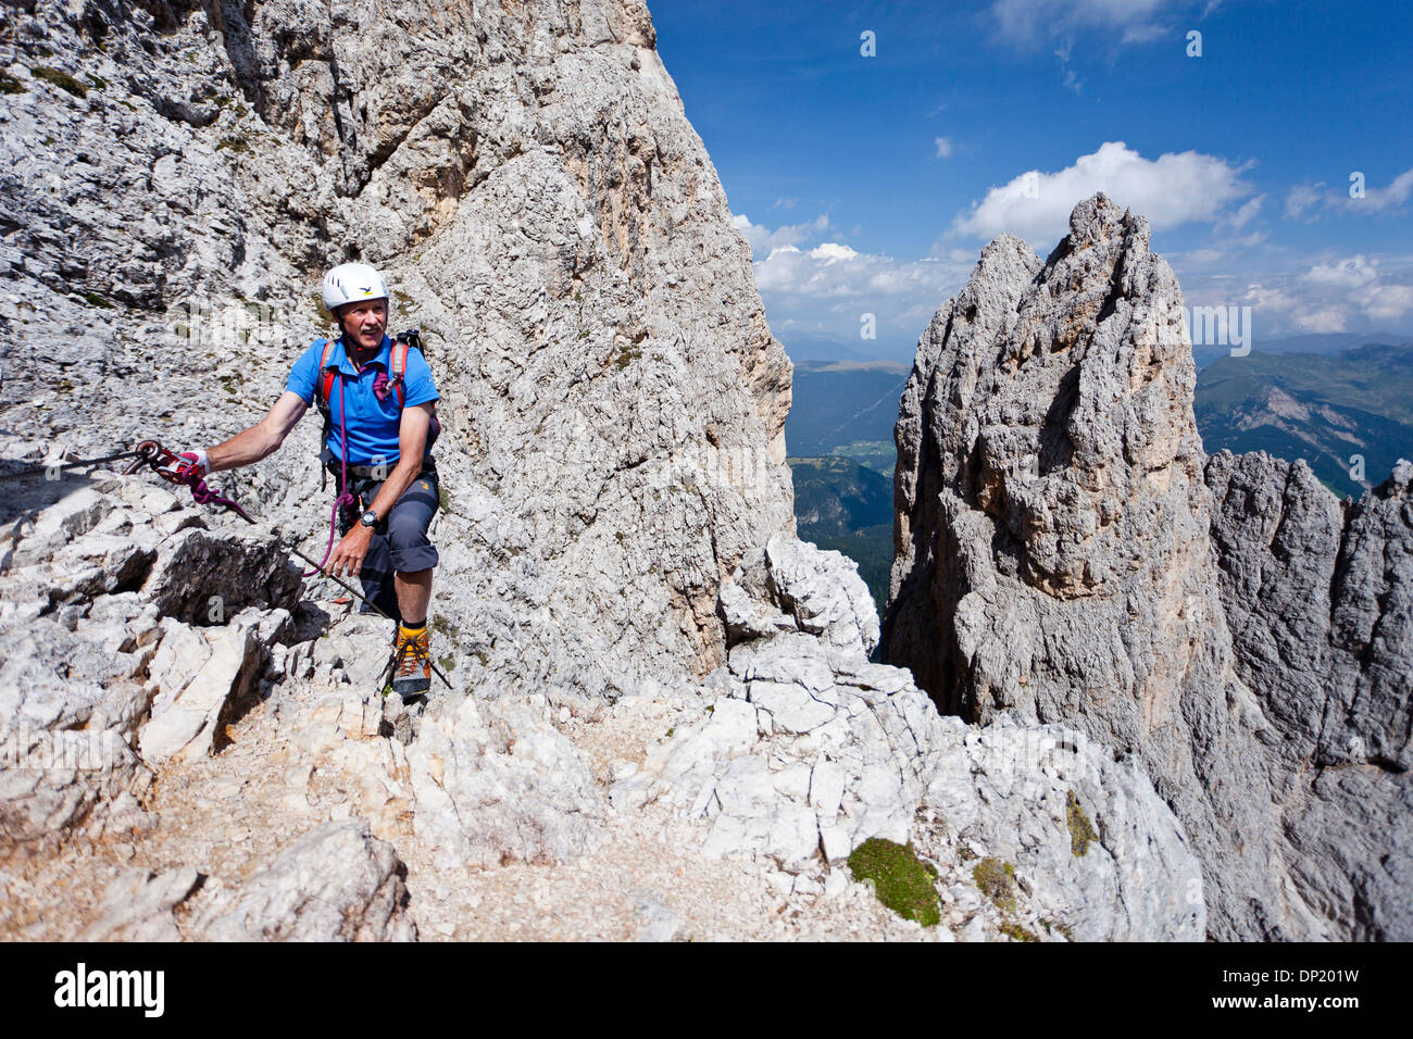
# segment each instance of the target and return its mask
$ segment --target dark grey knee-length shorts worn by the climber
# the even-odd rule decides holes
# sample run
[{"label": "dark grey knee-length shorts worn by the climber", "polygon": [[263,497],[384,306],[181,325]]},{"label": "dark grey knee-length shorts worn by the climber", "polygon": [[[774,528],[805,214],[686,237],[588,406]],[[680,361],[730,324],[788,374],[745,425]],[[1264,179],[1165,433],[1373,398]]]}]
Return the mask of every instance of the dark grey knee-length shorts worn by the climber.
[{"label": "dark grey knee-length shorts worn by the climber", "polygon": [[[349,481],[349,492],[357,500],[352,509],[346,509],[341,515],[341,533],[348,533],[349,527],[377,498],[382,486],[383,482],[376,479]],[[438,563],[437,546],[427,540],[427,527],[431,526],[432,516],[437,515],[439,506],[439,486],[437,465],[428,458],[422,464],[421,472],[417,474],[417,479],[393,505],[393,510],[373,527],[373,537],[367,546],[367,556],[363,557],[359,580],[363,582],[363,594],[369,601],[394,619],[401,618],[397,612],[393,574],[415,574],[431,570]],[[365,612],[367,612],[366,608]]]}]

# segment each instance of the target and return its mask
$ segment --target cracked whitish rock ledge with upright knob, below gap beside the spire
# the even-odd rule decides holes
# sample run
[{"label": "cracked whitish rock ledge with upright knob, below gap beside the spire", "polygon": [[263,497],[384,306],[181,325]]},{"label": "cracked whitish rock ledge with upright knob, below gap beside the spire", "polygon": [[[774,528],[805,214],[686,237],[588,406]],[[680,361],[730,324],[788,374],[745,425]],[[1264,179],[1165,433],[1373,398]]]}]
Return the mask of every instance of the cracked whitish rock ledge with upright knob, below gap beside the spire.
[{"label": "cracked whitish rock ledge with upright knob, below gap beside the spire", "polygon": [[[1081,940],[1201,940],[1201,869],[1136,762],[1009,714],[979,731],[938,715],[907,670],[868,663],[877,622],[842,605],[852,567],[780,539],[747,553],[722,585],[735,645],[704,690],[719,693],[613,785],[615,807],[657,802],[709,820],[706,855],[769,861],[796,891],[827,886],[825,867],[846,868],[882,837],[954,864],[962,898],[975,885],[955,864],[1003,859],[1024,882],[1023,908],[1006,906],[1020,926]],[[781,601],[812,602],[800,616],[848,621],[788,630],[769,619]],[[1075,806],[1095,817],[1078,809],[1085,840]]]}]

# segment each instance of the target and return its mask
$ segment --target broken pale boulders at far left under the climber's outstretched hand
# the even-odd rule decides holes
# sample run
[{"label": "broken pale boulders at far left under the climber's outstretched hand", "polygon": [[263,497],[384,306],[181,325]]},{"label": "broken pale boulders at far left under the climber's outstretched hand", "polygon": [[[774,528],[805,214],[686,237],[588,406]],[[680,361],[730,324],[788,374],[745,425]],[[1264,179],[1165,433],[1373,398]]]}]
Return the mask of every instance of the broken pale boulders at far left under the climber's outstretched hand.
[{"label": "broken pale boulders at far left under the climber's outstretched hand", "polygon": [[[6,488],[3,844],[34,852],[146,830],[153,766],[209,752],[259,677],[274,629],[259,609],[223,611],[292,605],[298,571],[268,540],[188,530],[202,519],[174,522],[177,499],[136,476],[20,476]],[[189,551],[196,533],[203,553]],[[216,557],[223,568],[208,565]],[[191,597],[174,585],[202,591],[203,619],[222,604],[230,623],[177,619]]]}]

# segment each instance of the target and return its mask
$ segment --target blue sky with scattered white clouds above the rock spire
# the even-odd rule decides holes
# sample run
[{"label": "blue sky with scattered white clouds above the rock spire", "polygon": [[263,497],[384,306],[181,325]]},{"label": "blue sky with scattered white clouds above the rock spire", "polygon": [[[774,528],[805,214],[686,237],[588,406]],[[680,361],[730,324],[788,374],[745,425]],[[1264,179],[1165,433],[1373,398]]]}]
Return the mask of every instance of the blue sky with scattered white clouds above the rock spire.
[{"label": "blue sky with scattered white clouds above the rock spire", "polygon": [[1413,4],[650,7],[787,346],[910,360],[988,240],[1044,256],[1096,189],[1190,305],[1251,307],[1258,349],[1413,329]]}]

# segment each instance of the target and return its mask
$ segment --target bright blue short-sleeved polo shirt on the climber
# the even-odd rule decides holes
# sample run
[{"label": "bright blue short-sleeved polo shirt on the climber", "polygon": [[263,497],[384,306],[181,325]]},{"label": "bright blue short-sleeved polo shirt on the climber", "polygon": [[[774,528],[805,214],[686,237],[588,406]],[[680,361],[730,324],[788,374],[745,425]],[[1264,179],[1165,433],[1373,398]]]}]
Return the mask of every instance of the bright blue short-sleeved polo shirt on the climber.
[{"label": "bright blue short-sleeved polo shirt on the climber", "polygon": [[[324,342],[315,341],[290,370],[290,379],[284,387],[290,393],[298,393],[305,404],[312,404],[318,392],[319,358],[324,355]],[[439,400],[437,385],[432,382],[432,370],[427,359],[418,349],[407,351],[407,370],[403,373],[403,390],[406,400],[403,406],[397,403],[397,392],[390,390],[383,400],[373,393],[373,382],[379,372],[389,373],[393,365],[393,341],[383,336],[383,349],[376,358],[363,365],[362,372],[353,370],[343,349],[343,338],[339,336],[329,355],[329,365],[339,366],[339,376],[329,390],[329,451],[333,458],[342,461],[343,457],[343,428],[339,424],[339,393],[343,397],[343,414],[349,424],[349,464],[350,465],[396,465],[400,457],[397,450],[397,433],[403,420],[403,407],[425,404],[430,400]]]}]

